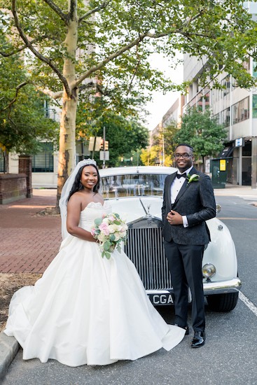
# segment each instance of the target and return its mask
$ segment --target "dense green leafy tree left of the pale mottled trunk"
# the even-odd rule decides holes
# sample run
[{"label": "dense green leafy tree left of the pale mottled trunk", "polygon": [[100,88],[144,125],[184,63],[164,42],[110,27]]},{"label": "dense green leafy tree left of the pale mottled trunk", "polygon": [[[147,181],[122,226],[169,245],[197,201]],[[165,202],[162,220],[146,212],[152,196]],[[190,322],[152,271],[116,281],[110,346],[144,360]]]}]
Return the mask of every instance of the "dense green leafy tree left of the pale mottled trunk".
[{"label": "dense green leafy tree left of the pale mottled trunk", "polygon": [[[1,45],[5,43],[0,36]],[[27,81],[27,71],[18,55],[1,61],[0,66],[0,146],[6,160],[11,151],[32,154],[39,151],[40,141],[57,144],[58,124],[46,118],[44,103],[48,99],[36,92]],[[5,162],[7,165],[7,162]],[[8,172],[6,167],[5,172]]]}]

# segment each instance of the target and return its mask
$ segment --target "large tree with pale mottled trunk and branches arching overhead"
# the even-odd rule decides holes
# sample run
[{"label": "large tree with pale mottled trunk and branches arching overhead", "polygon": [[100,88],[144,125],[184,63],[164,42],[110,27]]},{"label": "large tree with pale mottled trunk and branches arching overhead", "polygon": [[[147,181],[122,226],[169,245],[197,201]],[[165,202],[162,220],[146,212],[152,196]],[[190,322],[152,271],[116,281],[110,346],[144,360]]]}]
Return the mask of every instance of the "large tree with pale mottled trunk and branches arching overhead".
[{"label": "large tree with pale mottled trunk and branches arching overhead", "polygon": [[[203,83],[227,71],[238,85],[253,85],[244,62],[256,55],[257,29],[243,3],[0,0],[1,29],[9,36],[0,54],[7,57],[28,48],[33,54],[26,57],[30,80],[36,89],[62,98],[57,201],[74,169],[81,92],[97,90],[116,106],[138,113],[142,98],[152,90],[174,87],[151,69],[151,53],[162,52],[172,60],[176,50],[206,59]],[[148,92],[139,95],[144,89]]]}]

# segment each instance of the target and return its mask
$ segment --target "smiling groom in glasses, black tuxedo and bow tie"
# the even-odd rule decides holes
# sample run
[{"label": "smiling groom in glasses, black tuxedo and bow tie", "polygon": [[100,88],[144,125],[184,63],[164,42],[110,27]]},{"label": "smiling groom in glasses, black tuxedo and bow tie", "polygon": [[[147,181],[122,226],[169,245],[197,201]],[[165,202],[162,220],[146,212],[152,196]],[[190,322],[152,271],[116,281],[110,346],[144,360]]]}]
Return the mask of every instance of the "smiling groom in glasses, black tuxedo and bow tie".
[{"label": "smiling groom in glasses, black tuxedo and bow tie", "polygon": [[189,286],[195,332],[191,346],[197,348],[205,341],[202,257],[204,245],[211,240],[205,221],[216,216],[216,203],[211,179],[193,167],[193,148],[188,144],[179,144],[174,158],[179,172],[165,179],[162,235],[172,275],[175,322],[186,329],[186,335],[189,334]]}]

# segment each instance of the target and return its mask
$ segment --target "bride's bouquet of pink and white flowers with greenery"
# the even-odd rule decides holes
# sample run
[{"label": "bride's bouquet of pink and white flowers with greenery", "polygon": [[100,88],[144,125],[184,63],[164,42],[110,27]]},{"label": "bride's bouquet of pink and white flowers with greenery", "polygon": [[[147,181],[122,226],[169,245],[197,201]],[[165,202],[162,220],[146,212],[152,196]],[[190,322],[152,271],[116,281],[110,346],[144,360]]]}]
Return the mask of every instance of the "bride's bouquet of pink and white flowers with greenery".
[{"label": "bride's bouquet of pink and white flowers with greenery", "polygon": [[109,259],[116,246],[121,251],[120,243],[127,239],[127,225],[116,213],[103,214],[95,219],[91,234],[99,241],[102,257]]}]

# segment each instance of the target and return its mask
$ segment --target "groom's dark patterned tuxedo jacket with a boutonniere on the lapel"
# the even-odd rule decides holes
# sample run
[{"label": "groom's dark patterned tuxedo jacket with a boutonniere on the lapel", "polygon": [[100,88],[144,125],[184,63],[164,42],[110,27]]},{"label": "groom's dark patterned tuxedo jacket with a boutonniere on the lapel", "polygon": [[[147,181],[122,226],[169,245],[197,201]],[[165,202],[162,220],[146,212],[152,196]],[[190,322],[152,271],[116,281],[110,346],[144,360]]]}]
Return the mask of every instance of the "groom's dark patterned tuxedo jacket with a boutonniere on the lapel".
[{"label": "groom's dark patterned tuxedo jacket with a boutonniere on the lapel", "polygon": [[[197,174],[200,179],[183,183],[174,204],[171,203],[171,186],[176,178],[176,173],[168,175],[165,179],[165,188],[162,204],[162,236],[165,241],[173,240],[177,244],[205,245],[210,239],[209,229],[205,221],[216,216],[216,202],[214,189],[209,176],[198,172],[194,167],[190,175]],[[170,225],[167,221],[169,211],[177,211],[188,219],[188,227],[183,225]]]}]

